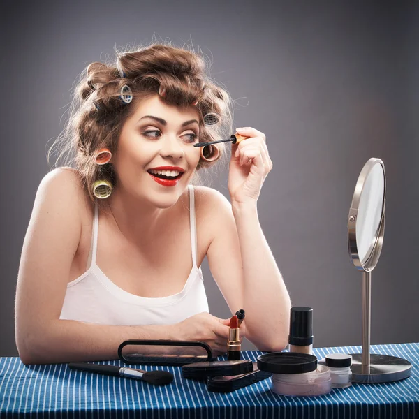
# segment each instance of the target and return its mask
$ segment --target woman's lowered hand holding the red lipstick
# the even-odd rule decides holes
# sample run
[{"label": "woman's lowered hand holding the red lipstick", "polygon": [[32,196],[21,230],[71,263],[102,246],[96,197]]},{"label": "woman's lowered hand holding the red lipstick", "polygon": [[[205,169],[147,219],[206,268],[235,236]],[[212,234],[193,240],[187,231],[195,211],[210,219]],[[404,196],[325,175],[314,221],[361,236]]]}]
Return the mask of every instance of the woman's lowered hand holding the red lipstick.
[{"label": "woman's lowered hand holding the red lipstick", "polygon": [[[227,352],[228,330],[230,318],[223,319],[212,316],[210,313],[198,313],[177,323],[179,326],[179,339],[205,342],[214,356]],[[240,325],[240,339],[246,335],[244,323]]]}]

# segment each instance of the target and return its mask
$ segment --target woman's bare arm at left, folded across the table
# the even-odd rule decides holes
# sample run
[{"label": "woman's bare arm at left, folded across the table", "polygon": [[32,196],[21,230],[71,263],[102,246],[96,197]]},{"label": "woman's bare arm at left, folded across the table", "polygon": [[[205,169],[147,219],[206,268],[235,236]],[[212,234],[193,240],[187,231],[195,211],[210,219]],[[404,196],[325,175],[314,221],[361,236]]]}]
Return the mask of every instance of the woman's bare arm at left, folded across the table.
[{"label": "woman's bare arm at left, folded across the table", "polygon": [[22,247],[15,301],[16,345],[22,362],[117,359],[117,348],[124,340],[186,340],[193,325],[203,322],[207,322],[207,328],[198,337],[216,348],[224,339],[220,336],[227,336],[228,327],[210,314],[202,314],[195,323],[193,316],[176,325],[144,326],[99,325],[59,318],[80,242],[82,205],[84,196],[72,170],[48,173],[36,193]]}]

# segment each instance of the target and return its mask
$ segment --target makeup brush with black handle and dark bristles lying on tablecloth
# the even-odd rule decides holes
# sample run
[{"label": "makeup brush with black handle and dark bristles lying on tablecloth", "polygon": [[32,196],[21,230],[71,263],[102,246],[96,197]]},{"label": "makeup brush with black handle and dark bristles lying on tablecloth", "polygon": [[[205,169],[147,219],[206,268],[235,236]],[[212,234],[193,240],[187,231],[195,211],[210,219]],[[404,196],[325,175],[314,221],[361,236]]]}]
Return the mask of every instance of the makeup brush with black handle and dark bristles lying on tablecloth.
[{"label": "makeup brush with black handle and dark bristles lying on tablecloth", "polygon": [[166,385],[173,381],[173,374],[168,371],[143,371],[142,369],[117,367],[116,365],[89,364],[88,362],[71,362],[68,364],[68,367],[98,374],[141,379],[154,385]]}]

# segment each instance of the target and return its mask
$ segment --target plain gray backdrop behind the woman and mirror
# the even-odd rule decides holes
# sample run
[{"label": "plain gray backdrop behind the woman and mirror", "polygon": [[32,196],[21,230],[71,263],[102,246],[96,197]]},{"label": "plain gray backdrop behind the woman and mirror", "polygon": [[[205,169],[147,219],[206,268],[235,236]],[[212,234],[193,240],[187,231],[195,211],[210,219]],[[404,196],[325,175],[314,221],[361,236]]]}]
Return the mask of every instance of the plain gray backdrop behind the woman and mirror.
[{"label": "plain gray backdrop behind the woman and mirror", "polygon": [[[237,101],[235,127],[267,136],[274,168],[260,223],[293,305],[314,309],[314,346],[361,342],[361,273],[348,257],[346,219],[362,166],[383,159],[387,219],[372,276],[372,344],[419,341],[417,4],[2,1],[0,355],[17,355],[20,251],[72,84],[115,45],[149,43],[153,34],[212,57],[212,77]],[[226,170],[212,186],[229,198]],[[206,260],[203,273],[210,311],[227,318]]]}]

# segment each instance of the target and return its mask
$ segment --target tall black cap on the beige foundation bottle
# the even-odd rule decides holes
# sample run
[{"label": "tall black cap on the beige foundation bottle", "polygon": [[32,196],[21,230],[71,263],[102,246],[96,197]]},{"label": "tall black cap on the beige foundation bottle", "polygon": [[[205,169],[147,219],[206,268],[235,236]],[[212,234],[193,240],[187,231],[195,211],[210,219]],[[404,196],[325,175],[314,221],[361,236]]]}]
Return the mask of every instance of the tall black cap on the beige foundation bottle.
[{"label": "tall black cap on the beige foundation bottle", "polygon": [[288,343],[297,346],[313,344],[313,309],[291,307]]}]

